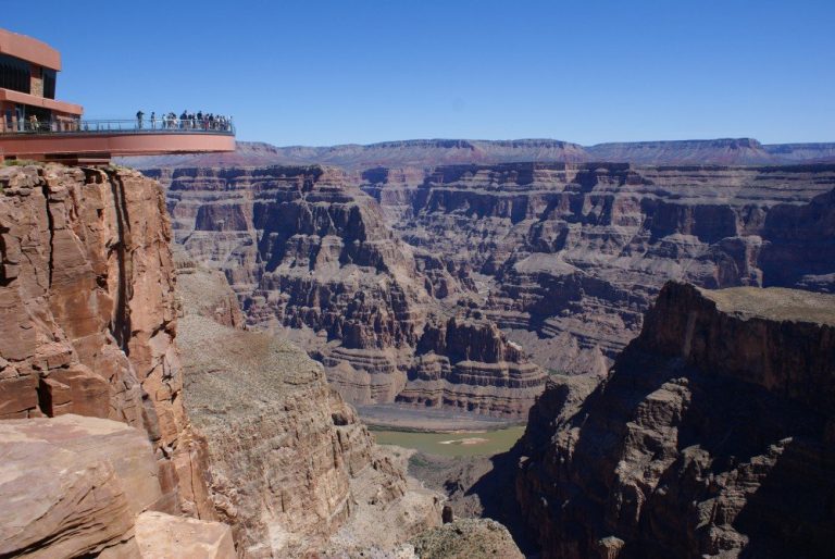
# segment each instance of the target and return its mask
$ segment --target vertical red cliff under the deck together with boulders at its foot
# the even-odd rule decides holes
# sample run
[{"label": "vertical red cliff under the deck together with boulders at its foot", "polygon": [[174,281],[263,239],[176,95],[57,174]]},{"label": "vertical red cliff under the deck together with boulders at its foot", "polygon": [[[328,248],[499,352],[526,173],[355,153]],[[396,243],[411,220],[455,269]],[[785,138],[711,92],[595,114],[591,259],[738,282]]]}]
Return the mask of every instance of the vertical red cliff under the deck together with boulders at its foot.
[{"label": "vertical red cliff under the deck together with boulders at its foot", "polygon": [[201,533],[234,554],[228,529],[186,536],[169,515],[215,518],[183,408],[170,240],[163,191],[137,172],[0,169],[0,493],[20,501],[3,554],[150,557],[148,511],[184,545]]}]

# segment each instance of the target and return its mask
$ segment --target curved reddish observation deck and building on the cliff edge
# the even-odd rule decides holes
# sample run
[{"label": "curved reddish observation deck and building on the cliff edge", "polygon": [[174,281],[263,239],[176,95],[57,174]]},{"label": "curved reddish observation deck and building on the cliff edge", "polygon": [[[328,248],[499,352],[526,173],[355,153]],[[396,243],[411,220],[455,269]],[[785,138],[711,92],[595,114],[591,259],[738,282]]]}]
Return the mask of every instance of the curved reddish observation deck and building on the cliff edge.
[{"label": "curved reddish observation deck and building on the cliff edge", "polygon": [[0,162],[107,163],[121,156],[235,151],[235,127],[225,116],[85,120],[80,104],[55,99],[60,71],[55,49],[0,29]]}]

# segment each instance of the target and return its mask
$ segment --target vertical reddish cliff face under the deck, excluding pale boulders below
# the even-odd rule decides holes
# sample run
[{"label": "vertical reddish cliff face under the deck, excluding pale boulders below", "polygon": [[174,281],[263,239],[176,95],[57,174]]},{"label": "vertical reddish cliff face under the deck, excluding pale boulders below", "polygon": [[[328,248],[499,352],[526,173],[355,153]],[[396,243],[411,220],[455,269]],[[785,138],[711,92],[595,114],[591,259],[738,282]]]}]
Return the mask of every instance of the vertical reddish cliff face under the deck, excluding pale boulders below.
[{"label": "vertical reddish cliff face under the deck, excluding pale boulders below", "polygon": [[66,413],[147,433],[153,508],[213,518],[184,412],[171,227],[130,171],[0,169],[0,419]]}]

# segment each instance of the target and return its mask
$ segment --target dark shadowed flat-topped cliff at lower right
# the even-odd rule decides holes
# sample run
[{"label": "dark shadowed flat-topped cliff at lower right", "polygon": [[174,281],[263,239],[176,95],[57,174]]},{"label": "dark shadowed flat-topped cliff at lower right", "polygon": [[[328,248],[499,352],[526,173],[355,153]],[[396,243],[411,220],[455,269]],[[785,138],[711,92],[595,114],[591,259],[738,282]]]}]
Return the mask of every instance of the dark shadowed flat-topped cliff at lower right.
[{"label": "dark shadowed flat-topped cliff at lower right", "polygon": [[670,283],[603,383],[531,411],[545,557],[828,557],[835,296]]}]

